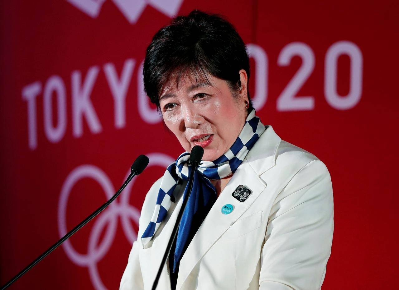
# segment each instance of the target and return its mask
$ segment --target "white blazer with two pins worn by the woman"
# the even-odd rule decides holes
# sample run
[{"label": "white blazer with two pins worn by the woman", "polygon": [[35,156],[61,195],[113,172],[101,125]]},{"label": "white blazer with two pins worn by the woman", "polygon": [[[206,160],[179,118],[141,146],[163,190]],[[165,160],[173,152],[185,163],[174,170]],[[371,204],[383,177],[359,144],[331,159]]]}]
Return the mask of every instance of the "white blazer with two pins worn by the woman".
[{"label": "white blazer with two pins worn by the woman", "polygon": [[[160,180],[148,191],[120,289],[151,289],[166,249],[184,186],[153,239],[150,222]],[[245,185],[252,194],[232,196]],[[176,192],[175,192],[176,193]],[[232,204],[230,214],[221,208]],[[333,197],[330,174],[316,156],[282,141],[271,126],[220,193],[180,261],[176,289],[320,289],[330,256]],[[157,289],[170,289],[168,261]]]}]

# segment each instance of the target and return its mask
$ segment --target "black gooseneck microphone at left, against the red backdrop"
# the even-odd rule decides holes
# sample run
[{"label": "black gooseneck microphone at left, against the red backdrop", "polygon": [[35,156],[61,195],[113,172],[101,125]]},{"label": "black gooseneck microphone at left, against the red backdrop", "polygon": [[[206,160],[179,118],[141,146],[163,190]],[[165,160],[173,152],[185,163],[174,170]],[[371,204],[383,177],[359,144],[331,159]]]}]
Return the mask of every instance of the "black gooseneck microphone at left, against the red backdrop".
[{"label": "black gooseneck microphone at left, against the red backdrop", "polygon": [[4,284],[1,287],[1,290],[6,289],[8,286],[10,286],[12,283],[14,283],[16,280],[18,280],[19,278],[22,277],[22,275],[24,275],[26,272],[28,272],[30,269],[32,269],[37,263],[39,263],[41,260],[43,260],[49,253],[51,253],[52,251],[54,251],[57,247],[59,247],[59,245],[61,245],[64,241],[66,241],[69,237],[71,237],[73,234],[75,234],[78,230],[80,230],[85,224],[87,224],[88,222],[90,222],[95,216],[97,216],[97,214],[99,214],[100,212],[102,212],[103,210],[105,210],[105,208],[107,206],[109,206],[109,204],[111,204],[111,202],[113,202],[118,195],[122,192],[122,190],[126,187],[126,185],[130,182],[130,180],[132,180],[132,178],[135,175],[139,175],[140,173],[142,173],[144,171],[144,169],[146,168],[146,166],[148,165],[148,162],[150,160],[148,159],[147,156],[145,155],[140,155],[137,157],[136,160],[134,160],[132,167],[130,167],[130,170],[132,171],[130,173],[130,175],[128,176],[128,178],[126,179],[126,181],[122,184],[122,186],[120,187],[120,189],[115,193],[115,195],[113,195],[111,197],[111,199],[109,199],[107,202],[105,202],[105,204],[103,204],[102,206],[100,206],[99,208],[97,208],[97,210],[95,210],[95,212],[93,212],[91,215],[89,215],[87,218],[85,218],[80,224],[78,224],[77,226],[75,226],[75,228],[73,228],[70,232],[68,232],[65,236],[63,236],[61,239],[59,239],[59,241],[57,241],[57,243],[55,243],[54,245],[52,245],[51,247],[49,247],[49,249],[47,249],[47,251],[45,251],[43,254],[41,254],[38,258],[36,258],[36,260],[34,260],[32,263],[30,263],[28,266],[26,266],[21,272],[19,272],[18,274],[16,274],[16,276],[14,276],[14,278],[12,278],[10,281],[8,281],[6,284]]}]

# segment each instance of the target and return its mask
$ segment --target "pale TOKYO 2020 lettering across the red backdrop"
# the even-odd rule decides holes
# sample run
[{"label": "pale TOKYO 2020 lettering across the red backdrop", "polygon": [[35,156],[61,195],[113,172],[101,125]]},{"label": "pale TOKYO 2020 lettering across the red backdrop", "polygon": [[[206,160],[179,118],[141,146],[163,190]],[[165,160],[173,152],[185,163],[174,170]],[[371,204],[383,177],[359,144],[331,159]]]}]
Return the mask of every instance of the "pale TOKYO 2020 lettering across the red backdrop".
[{"label": "pale TOKYO 2020 lettering across the red backdrop", "polygon": [[[247,47],[249,56],[255,61],[255,93],[253,95],[253,104],[255,109],[259,111],[266,105],[268,98],[269,60],[267,53],[259,45],[248,44]],[[346,54],[350,58],[350,90],[346,96],[340,96],[337,92],[337,64],[338,57],[342,54]],[[316,107],[314,96],[296,95],[313,73],[315,67],[314,52],[305,43],[289,43],[280,52],[277,64],[279,64],[279,66],[289,66],[294,56],[302,58],[302,65],[277,97],[276,109],[277,111],[314,110]],[[128,88],[135,68],[138,70],[136,79],[136,99],[140,118],[148,124],[157,124],[161,122],[159,112],[150,107],[150,101],[144,92],[142,61],[139,66],[136,66],[136,63],[136,60],[128,58],[124,62],[119,76],[113,63],[106,63],[103,66],[103,73],[105,74],[114,101],[115,128],[126,127],[126,96],[128,95]],[[99,66],[92,66],[83,77],[82,72],[79,70],[75,70],[71,74],[72,132],[75,138],[83,136],[84,119],[91,133],[96,134],[102,130],[95,107],[90,99],[99,73]],[[361,99],[362,80],[363,55],[359,47],[350,41],[338,41],[331,45],[326,52],[324,67],[324,97],[326,102],[337,110],[352,109]],[[47,140],[53,143],[62,140],[67,128],[67,96],[65,94],[65,83],[65,80],[61,77],[54,75],[44,84],[43,127]],[[22,88],[22,99],[27,103],[28,144],[29,148],[32,150],[38,146],[38,110],[36,100],[41,93],[42,83],[40,81]],[[55,99],[52,99],[53,93],[56,95]],[[55,113],[53,112],[52,102],[55,100],[57,101],[56,125],[52,122]]]}]

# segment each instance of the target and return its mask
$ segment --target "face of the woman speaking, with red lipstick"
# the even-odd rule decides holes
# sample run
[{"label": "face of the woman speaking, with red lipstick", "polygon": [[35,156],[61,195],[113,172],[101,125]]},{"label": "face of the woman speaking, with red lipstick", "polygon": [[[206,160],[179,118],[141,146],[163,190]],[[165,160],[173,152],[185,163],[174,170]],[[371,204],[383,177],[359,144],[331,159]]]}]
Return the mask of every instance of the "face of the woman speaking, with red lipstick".
[{"label": "face of the woman speaking, with red lipstick", "polygon": [[233,97],[225,80],[207,75],[211,85],[186,78],[170,84],[160,94],[160,108],[166,126],[175,134],[184,150],[199,145],[202,160],[222,156],[241,132],[247,110],[247,74],[240,70],[241,90]]}]

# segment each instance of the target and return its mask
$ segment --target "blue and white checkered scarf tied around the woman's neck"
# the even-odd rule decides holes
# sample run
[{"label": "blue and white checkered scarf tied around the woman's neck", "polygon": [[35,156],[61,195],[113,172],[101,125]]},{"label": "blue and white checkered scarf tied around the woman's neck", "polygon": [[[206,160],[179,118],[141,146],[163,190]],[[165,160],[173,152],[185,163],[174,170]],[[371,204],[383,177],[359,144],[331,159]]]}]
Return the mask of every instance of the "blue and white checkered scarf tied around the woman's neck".
[{"label": "blue and white checkered scarf tied around the woman's neck", "polygon": [[[216,190],[209,179],[221,179],[233,174],[265,129],[265,125],[261,123],[259,117],[255,116],[255,109],[252,109],[245,120],[243,129],[231,148],[213,162],[202,161],[197,168],[194,173],[193,190],[179,226],[174,252],[174,269],[176,268],[176,263],[180,261],[184,245],[188,239],[194,214],[198,208],[209,205],[209,202],[212,202],[212,204],[215,203]],[[191,165],[188,163],[189,158],[190,153],[184,152],[176,162],[169,165],[166,169],[158,192],[154,214],[141,237],[143,247],[152,239],[162,220],[164,220],[172,200],[174,201],[172,194],[176,188],[178,179],[189,179],[192,170]],[[188,183],[183,197],[186,196],[187,191]]]}]

